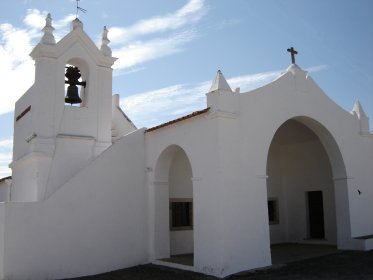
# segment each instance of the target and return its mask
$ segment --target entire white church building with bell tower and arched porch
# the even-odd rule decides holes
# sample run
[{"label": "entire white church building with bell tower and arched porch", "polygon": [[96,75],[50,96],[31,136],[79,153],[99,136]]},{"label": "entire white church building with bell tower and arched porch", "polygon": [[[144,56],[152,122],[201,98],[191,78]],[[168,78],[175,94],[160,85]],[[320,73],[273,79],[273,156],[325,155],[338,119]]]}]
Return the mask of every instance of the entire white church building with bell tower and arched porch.
[{"label": "entire white church building with bell tower and arched porch", "polygon": [[[271,265],[271,245],[373,249],[373,134],[298,65],[247,93],[218,71],[206,109],[137,129],[97,48],[48,15],[17,101],[0,179],[0,279],[61,279],[145,263],[225,277]],[[81,76],[81,77],[80,77]],[[79,94],[78,94],[79,93]],[[71,104],[69,104],[71,103]]]}]

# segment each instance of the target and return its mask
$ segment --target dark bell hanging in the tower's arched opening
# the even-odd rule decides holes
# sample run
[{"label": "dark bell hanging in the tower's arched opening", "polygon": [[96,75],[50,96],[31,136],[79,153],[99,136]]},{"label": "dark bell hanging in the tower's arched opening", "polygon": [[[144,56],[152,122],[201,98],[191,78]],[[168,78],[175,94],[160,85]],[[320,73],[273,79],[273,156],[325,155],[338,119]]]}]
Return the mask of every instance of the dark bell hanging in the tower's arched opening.
[{"label": "dark bell hanging in the tower's arched opening", "polygon": [[82,75],[80,74],[80,70],[78,67],[68,66],[66,67],[65,77],[65,84],[69,84],[67,87],[67,93],[65,97],[65,102],[73,104],[80,104],[82,103],[82,99],[79,97],[79,89],[77,85],[86,86],[86,82],[80,82],[79,78]]}]

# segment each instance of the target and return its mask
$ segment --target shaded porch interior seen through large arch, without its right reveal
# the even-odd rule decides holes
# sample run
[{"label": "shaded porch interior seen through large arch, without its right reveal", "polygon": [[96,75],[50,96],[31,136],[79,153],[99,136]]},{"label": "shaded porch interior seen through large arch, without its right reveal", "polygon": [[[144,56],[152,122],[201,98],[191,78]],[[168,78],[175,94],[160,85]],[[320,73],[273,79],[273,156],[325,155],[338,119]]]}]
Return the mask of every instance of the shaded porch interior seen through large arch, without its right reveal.
[{"label": "shaded porch interior seen through large arch, without its right reveal", "polygon": [[271,244],[336,244],[333,173],[318,136],[297,120],[276,131],[267,159]]}]

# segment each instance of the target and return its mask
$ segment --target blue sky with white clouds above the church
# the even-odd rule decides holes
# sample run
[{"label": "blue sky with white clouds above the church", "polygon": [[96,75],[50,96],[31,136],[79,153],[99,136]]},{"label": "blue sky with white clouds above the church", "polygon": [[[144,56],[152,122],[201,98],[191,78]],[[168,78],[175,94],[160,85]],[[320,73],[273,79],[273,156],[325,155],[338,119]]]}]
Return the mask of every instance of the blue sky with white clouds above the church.
[{"label": "blue sky with white clouds above the church", "polygon": [[[14,102],[33,83],[28,56],[50,12],[59,40],[75,18],[72,0],[0,2],[0,178],[10,174]],[[118,57],[113,93],[138,127],[205,107],[221,69],[247,91],[297,64],[338,105],[360,100],[373,119],[371,0],[81,0],[84,30],[96,44],[104,25]]]}]

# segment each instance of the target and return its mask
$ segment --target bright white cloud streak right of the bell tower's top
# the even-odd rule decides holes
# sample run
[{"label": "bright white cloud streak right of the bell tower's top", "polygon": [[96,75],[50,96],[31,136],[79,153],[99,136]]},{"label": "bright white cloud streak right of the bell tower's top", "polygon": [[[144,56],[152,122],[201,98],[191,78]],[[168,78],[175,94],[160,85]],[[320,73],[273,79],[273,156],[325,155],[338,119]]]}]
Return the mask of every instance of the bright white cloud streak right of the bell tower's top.
[{"label": "bright white cloud streak right of the bell tower's top", "polygon": [[174,13],[110,28],[113,56],[119,58],[114,68],[126,69],[183,51],[184,45],[197,37],[193,24],[204,13],[204,0],[190,0]]}]

